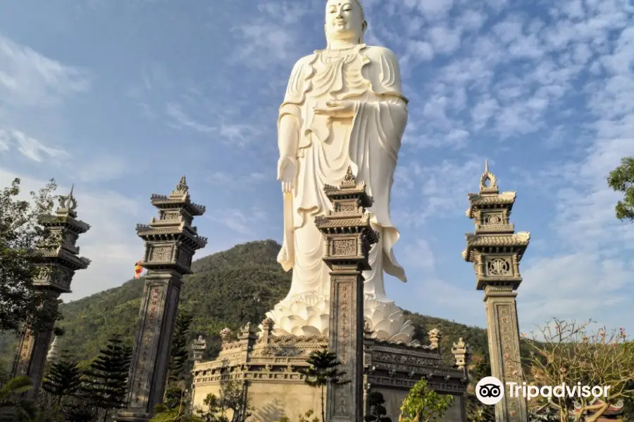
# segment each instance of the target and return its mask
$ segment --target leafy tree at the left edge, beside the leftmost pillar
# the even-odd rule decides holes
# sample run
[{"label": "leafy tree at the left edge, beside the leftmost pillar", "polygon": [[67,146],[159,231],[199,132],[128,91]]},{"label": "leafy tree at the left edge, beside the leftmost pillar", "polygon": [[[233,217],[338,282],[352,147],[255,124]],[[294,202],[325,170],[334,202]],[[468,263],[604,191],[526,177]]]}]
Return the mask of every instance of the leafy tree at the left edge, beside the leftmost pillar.
[{"label": "leafy tree at the left edge, beside the leftmost pillar", "polygon": [[57,188],[51,179],[32,200],[20,200],[20,179],[0,191],[0,331],[18,333],[25,322],[33,331],[49,327],[59,318],[56,307],[43,306],[46,297],[33,288],[39,269],[36,246],[46,238],[38,217],[53,209],[52,193]]}]

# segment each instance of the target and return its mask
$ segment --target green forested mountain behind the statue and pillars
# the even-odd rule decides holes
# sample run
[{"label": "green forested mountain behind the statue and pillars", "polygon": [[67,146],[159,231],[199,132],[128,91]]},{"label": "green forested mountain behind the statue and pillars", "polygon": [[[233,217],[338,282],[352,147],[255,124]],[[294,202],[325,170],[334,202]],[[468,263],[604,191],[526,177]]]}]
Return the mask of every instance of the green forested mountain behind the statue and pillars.
[{"label": "green forested mountain behind the statue and pillars", "polygon": [[[194,274],[185,277],[180,309],[194,316],[192,340],[199,334],[206,337],[206,358],[215,357],[220,350],[218,331],[225,326],[237,330],[247,321],[259,324],[265,313],[287,294],[291,273],[284,272],[276,261],[279,250],[280,245],[275,241],[255,241],[192,264]],[[60,338],[61,349],[87,361],[97,355],[111,333],[120,333],[132,341],[143,285],[141,277],[61,305],[63,320],[58,326],[66,331]],[[409,314],[409,319],[416,326],[415,338],[423,344],[428,344],[430,329],[440,329],[441,347],[447,351],[447,359],[452,359],[449,350],[459,337],[464,338],[475,354],[482,355],[487,349],[483,328],[420,314]],[[0,335],[0,359],[11,362],[14,353],[15,338]]]}]

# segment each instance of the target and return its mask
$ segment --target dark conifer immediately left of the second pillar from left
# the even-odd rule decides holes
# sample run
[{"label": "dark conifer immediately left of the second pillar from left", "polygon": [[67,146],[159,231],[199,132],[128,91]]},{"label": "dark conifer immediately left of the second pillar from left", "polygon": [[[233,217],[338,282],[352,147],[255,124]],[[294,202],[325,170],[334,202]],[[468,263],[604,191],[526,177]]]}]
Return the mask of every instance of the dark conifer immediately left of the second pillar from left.
[{"label": "dark conifer immediately left of the second pillar from left", "polygon": [[83,382],[85,395],[95,407],[104,411],[104,422],[110,411],[125,404],[131,359],[132,347],[124,345],[120,336],[115,334],[86,371]]}]

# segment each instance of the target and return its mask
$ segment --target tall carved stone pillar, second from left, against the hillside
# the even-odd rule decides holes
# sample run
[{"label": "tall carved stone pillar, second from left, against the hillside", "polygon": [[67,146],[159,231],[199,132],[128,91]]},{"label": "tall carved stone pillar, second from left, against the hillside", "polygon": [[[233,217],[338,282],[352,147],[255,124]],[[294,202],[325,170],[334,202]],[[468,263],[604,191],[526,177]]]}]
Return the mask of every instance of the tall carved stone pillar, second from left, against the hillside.
[{"label": "tall carved stone pillar, second from left, against the hillside", "polygon": [[194,216],[205,207],[189,200],[185,177],[170,196],[152,195],[159,218],[149,225],[137,224],[137,235],[145,241],[142,267],[148,269],[128,377],[128,397],[117,421],[148,421],[154,407],[163,401],[170,345],[178,313],[182,276],[191,274],[194,252],[207,239],[192,226]]}]

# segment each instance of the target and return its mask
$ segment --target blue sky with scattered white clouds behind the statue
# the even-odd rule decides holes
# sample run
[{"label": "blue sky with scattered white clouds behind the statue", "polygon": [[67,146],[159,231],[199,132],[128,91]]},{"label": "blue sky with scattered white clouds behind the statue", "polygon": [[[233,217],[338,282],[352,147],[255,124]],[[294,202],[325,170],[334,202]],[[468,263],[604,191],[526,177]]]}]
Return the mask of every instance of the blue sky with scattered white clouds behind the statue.
[{"label": "blue sky with scattered white clouds behind the statue", "polygon": [[[485,325],[461,260],[485,159],[530,231],[521,331],[552,316],[634,329],[634,226],[605,178],[634,155],[634,6],[626,0],[365,0],[410,98],[393,219],[404,309]],[[74,300],[119,286],[142,255],[150,193],[187,175],[209,237],[197,257],[281,241],[276,116],[295,60],[324,46],[322,1],[5,1],[0,184],[75,183],[93,260]]]}]

